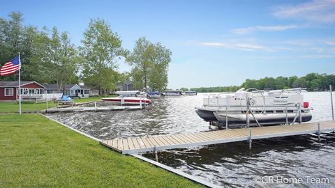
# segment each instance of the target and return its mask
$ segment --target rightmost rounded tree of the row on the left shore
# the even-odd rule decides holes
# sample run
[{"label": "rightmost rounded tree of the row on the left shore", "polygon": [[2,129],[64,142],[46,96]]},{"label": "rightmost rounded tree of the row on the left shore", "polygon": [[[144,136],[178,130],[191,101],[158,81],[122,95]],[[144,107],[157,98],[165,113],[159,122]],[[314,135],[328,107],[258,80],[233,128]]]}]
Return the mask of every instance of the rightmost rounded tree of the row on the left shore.
[{"label": "rightmost rounded tree of the row on the left shore", "polygon": [[147,90],[149,86],[152,91],[166,88],[171,52],[160,42],[153,44],[146,38],[139,38],[126,61],[132,67],[131,74],[136,88]]}]

